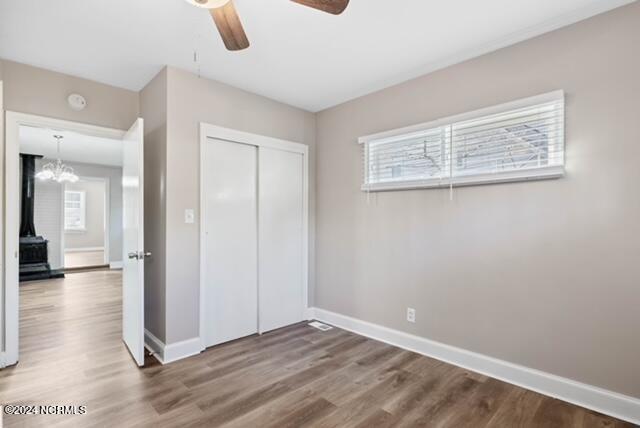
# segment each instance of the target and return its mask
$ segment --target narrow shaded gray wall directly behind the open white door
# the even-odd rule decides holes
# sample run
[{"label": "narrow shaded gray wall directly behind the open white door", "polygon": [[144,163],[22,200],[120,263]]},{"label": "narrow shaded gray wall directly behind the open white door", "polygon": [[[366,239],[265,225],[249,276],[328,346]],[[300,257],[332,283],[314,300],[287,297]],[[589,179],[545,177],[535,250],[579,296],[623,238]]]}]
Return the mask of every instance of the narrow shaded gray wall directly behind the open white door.
[{"label": "narrow shaded gray wall directly behind the open white door", "polygon": [[144,325],[166,340],[166,174],[167,71],[140,92],[144,119],[144,245],[152,257],[144,262]]}]

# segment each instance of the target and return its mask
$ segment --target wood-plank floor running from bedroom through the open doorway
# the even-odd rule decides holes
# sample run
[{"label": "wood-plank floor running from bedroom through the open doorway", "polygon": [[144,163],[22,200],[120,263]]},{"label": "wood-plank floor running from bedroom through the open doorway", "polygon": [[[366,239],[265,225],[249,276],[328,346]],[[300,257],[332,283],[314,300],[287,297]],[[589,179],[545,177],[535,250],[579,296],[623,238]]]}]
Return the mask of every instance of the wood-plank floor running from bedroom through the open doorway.
[{"label": "wood-plank floor running from bedroom through the open doorway", "polygon": [[5,426],[622,427],[623,422],[380,342],[305,323],[138,369],[121,342],[121,275],[20,287],[21,361],[0,403],[85,405]]}]

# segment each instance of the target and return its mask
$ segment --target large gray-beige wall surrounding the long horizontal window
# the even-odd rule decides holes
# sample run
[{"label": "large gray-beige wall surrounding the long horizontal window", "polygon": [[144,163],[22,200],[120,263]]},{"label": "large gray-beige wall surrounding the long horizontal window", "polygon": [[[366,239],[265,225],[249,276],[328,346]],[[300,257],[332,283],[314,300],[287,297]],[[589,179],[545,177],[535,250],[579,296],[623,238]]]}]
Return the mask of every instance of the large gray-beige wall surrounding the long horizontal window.
[{"label": "large gray-beige wall surrounding the long horizontal window", "polygon": [[[639,23],[634,3],[319,113],[316,306],[640,397]],[[556,89],[566,178],[359,190],[359,136]]]}]

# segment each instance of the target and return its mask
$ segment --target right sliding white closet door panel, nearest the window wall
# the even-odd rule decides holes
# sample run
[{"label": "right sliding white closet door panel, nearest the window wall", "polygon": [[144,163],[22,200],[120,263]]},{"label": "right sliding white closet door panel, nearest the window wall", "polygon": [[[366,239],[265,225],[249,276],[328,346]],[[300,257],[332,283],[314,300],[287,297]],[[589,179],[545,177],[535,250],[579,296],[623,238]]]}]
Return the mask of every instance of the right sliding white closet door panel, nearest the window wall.
[{"label": "right sliding white closet door panel, nearest the window wall", "polygon": [[303,320],[303,155],[260,148],[259,320],[267,332]]}]

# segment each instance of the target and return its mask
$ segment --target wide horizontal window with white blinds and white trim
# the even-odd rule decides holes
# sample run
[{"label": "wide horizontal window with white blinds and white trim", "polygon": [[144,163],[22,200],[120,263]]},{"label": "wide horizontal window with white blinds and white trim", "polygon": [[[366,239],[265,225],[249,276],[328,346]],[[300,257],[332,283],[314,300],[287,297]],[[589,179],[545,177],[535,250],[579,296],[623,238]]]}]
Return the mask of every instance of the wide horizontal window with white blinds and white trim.
[{"label": "wide horizontal window with white blinds and white trim", "polygon": [[527,98],[363,137],[363,190],[555,178],[564,174],[564,94]]}]

